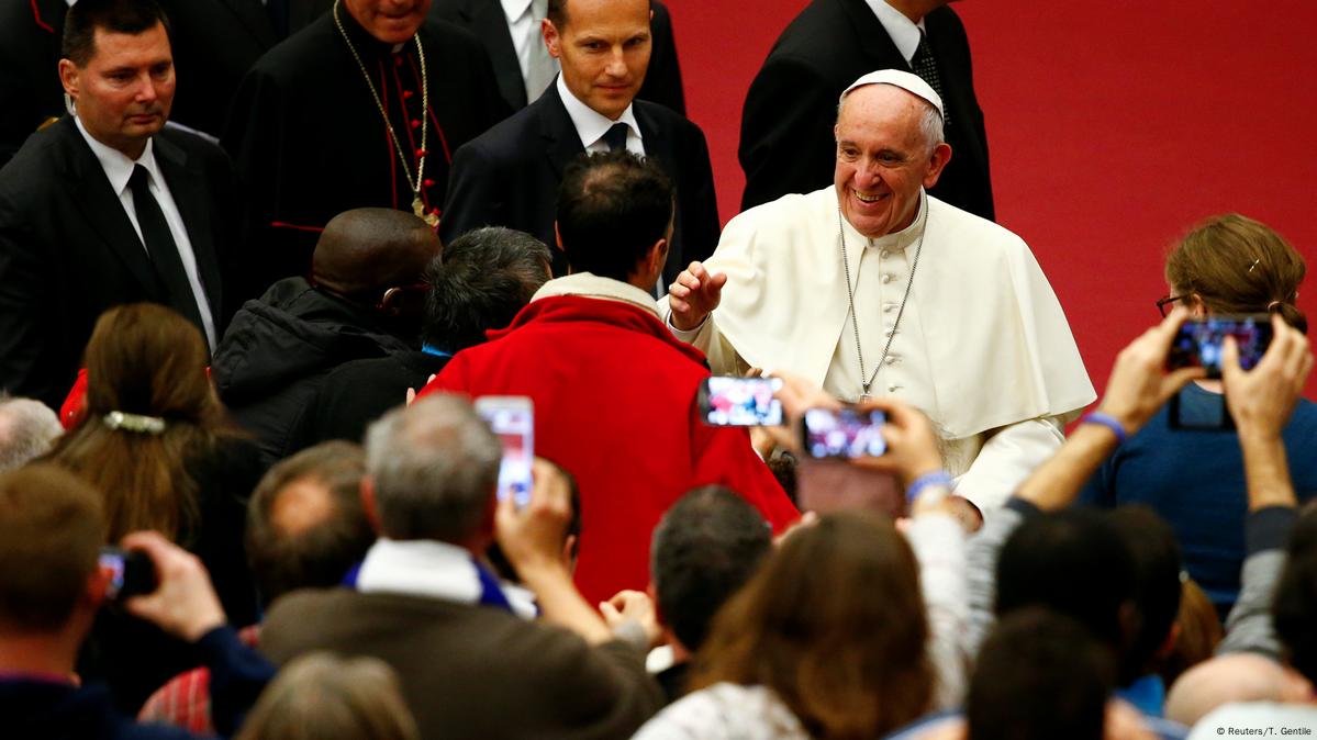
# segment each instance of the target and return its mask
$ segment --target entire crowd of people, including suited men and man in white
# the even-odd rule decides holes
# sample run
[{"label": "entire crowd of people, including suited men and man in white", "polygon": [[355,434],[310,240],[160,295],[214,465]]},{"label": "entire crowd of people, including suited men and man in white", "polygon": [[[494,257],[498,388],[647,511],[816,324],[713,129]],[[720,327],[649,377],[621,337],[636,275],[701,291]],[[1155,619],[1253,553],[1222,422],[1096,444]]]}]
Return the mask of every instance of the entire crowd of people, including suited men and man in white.
[{"label": "entire crowd of people, including suited men and man in white", "polygon": [[1317,729],[1303,257],[1192,226],[1098,398],[946,0],[802,11],[722,229],[660,3],[246,1],[0,14],[5,737]]}]

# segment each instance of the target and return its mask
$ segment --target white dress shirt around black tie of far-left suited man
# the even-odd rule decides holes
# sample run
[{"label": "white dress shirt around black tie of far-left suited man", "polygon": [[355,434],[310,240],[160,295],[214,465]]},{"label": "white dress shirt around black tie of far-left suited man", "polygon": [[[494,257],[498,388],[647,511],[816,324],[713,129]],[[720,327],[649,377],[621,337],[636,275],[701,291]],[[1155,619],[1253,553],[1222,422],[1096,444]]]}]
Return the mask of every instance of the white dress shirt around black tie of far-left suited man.
[{"label": "white dress shirt around black tie of far-left suited man", "polygon": [[128,186],[128,180],[132,179],[136,165],[145,167],[148,175],[150,175],[146,187],[155,196],[155,201],[159,203],[161,212],[165,213],[165,223],[169,224],[170,236],[174,237],[174,245],[178,246],[178,258],[183,263],[183,271],[187,273],[187,284],[192,288],[192,298],[196,300],[198,312],[202,315],[202,324],[205,328],[205,342],[213,352],[216,342],[215,317],[211,315],[211,304],[207,302],[205,291],[202,288],[202,277],[196,270],[196,254],[192,251],[191,240],[187,238],[183,216],[178,212],[174,196],[169,191],[169,183],[165,182],[165,175],[155,163],[155,154],[151,146],[154,142],[146,140],[146,149],[142,150],[142,155],[136,161],[129,159],[122,151],[96,141],[83,128],[82,120],[76,120],[76,122],[78,132],[87,141],[87,146],[91,146],[92,154],[100,162],[100,169],[105,171],[105,179],[109,180],[111,190],[119,195],[119,203],[122,204],[124,212],[128,213],[128,220],[133,224],[137,238],[142,241],[144,251],[146,250],[146,240],[142,238],[142,226],[137,223],[137,208],[133,205],[133,188]]}]

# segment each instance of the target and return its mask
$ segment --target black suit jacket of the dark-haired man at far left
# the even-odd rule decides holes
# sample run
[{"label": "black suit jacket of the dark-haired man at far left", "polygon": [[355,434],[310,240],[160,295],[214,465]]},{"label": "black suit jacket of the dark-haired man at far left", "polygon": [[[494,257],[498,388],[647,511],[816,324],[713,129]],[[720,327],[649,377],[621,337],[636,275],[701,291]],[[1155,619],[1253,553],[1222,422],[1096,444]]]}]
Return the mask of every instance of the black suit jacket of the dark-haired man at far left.
[{"label": "black suit jacket of the dark-haired man at far left", "polygon": [[[187,228],[223,330],[220,253],[233,174],[215,145],[166,129],[155,161]],[[59,408],[103,311],[169,304],[128,213],[71,117],[30,137],[0,170],[0,387]]]}]

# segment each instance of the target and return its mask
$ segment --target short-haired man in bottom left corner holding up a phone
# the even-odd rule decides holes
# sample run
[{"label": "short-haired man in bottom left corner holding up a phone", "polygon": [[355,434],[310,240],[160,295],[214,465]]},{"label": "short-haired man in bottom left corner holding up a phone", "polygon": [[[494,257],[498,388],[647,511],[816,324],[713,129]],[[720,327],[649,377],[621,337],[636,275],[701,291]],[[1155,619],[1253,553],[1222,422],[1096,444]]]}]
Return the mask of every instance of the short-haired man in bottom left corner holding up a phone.
[{"label": "short-haired man in bottom left corner holding up a phone", "polygon": [[[80,685],[74,665],[96,614],[113,593],[99,565],[104,541],[100,494],[70,473],[30,465],[0,474],[0,708],[4,736],[188,739],[188,732],[138,727],[117,714],[104,687]],[[157,532],[124,546],[150,557],[158,587],[122,599],[128,612],[192,643],[216,675],[232,732],[274,669],[224,627],[224,611],[198,558]]]}]

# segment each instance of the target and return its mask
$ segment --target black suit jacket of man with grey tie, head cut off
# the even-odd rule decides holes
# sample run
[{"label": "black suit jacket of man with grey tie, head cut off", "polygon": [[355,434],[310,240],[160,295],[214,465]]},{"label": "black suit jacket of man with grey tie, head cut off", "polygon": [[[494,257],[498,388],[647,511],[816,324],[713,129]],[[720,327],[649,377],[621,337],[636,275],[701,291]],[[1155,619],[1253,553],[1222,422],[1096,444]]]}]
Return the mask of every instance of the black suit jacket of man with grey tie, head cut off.
[{"label": "black suit jacket of man with grey tie, head cut off", "polygon": [[[649,54],[649,70],[645,82],[636,95],[641,100],[666,105],[686,115],[686,95],[681,87],[681,65],[677,62],[677,42],[672,33],[672,14],[668,7],[655,0],[653,20],[649,33],[653,38],[653,51]],[[507,16],[498,0],[435,0],[429,9],[431,17],[457,24],[474,33],[498,76],[498,91],[514,111],[525,108],[525,80],[522,79],[522,66],[512,46],[512,34],[507,29]]]}]

